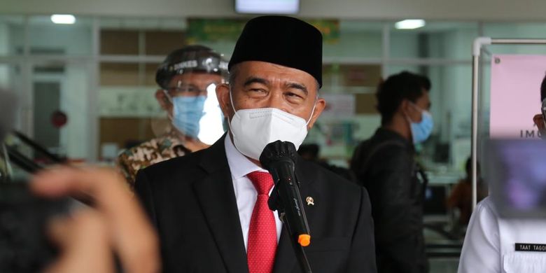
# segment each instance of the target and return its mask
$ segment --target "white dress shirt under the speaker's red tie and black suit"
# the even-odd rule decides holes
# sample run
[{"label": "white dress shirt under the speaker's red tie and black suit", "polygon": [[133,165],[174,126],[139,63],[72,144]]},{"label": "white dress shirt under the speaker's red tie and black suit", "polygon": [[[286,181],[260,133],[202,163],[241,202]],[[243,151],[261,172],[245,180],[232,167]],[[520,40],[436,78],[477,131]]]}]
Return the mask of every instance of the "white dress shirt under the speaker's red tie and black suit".
[{"label": "white dress shirt under the speaker's red tie and black suit", "polygon": [[[228,157],[230,165],[231,179],[233,181],[233,190],[235,190],[235,199],[237,199],[237,209],[239,210],[239,221],[241,221],[241,230],[243,230],[244,248],[248,247],[248,227],[252,217],[252,211],[256,199],[258,199],[258,191],[246,174],[251,172],[267,172],[258,165],[255,165],[246,156],[241,154],[231,141],[230,134],[225,137],[225,155]],[[269,191],[271,195],[271,191]],[[273,211],[276,224],[276,241],[279,242],[281,237],[282,223],[279,220],[279,215]]]}]

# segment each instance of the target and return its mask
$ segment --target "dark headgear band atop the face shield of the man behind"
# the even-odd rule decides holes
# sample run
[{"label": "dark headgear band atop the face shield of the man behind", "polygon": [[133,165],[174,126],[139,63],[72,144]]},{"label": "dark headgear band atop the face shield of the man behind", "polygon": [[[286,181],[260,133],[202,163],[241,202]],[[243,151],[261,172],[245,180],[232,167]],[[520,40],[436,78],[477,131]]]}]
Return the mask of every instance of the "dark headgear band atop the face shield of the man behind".
[{"label": "dark headgear band atop the face shield of the man behind", "polygon": [[205,72],[218,75],[228,74],[228,63],[222,55],[204,45],[187,45],[169,53],[158,71],[155,82],[162,88],[167,88],[171,78],[177,74],[190,72]]}]

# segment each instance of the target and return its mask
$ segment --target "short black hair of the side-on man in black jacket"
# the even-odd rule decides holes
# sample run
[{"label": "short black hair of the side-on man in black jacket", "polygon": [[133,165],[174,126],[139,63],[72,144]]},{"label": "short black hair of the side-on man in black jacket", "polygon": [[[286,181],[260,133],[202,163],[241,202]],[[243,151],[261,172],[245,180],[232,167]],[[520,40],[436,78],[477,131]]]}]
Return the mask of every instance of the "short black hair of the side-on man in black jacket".
[{"label": "short black hair of the side-on man in black jacket", "polygon": [[430,90],[430,86],[430,80],[426,76],[408,71],[389,76],[377,87],[377,111],[381,114],[381,124],[391,122],[404,99],[416,102],[423,96],[423,92]]}]

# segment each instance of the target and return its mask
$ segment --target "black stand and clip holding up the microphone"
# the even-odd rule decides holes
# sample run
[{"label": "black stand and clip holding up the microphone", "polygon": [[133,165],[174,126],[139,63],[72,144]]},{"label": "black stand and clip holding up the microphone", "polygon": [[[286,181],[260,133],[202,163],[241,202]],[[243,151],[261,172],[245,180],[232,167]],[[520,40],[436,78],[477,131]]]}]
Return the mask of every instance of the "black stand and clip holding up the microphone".
[{"label": "black stand and clip holding up the microphone", "polygon": [[[300,182],[297,182],[297,186],[300,186]],[[290,228],[290,224],[288,221],[286,221],[286,217],[284,214],[284,207],[281,204],[282,200],[279,198],[279,192],[277,191],[277,184],[275,183],[275,188],[272,190],[271,195],[269,196],[269,200],[267,201],[267,204],[269,204],[269,209],[272,211],[277,211],[279,213],[279,219],[281,219],[281,222],[283,223],[283,227],[286,228],[286,231],[288,233],[288,237],[290,237],[290,243],[292,244],[292,247],[294,248],[294,252],[296,255],[297,262],[300,264],[300,269],[302,269],[303,273],[312,273],[311,266],[309,265],[309,260],[307,260],[307,255],[305,255],[305,251],[303,249],[303,246],[297,243],[297,240],[293,236],[293,230]]]}]

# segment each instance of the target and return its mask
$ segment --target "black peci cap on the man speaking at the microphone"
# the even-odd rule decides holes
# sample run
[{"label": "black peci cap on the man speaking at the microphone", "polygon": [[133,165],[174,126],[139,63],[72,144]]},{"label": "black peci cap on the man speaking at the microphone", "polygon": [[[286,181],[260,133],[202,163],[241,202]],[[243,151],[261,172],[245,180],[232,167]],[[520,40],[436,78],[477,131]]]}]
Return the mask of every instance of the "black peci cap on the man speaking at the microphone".
[{"label": "black peci cap on the man speaking at the microphone", "polygon": [[322,87],[322,34],[302,20],[261,16],[249,20],[237,40],[229,69],[246,61],[270,62],[300,69]]}]

